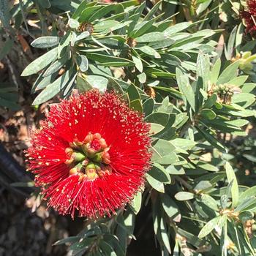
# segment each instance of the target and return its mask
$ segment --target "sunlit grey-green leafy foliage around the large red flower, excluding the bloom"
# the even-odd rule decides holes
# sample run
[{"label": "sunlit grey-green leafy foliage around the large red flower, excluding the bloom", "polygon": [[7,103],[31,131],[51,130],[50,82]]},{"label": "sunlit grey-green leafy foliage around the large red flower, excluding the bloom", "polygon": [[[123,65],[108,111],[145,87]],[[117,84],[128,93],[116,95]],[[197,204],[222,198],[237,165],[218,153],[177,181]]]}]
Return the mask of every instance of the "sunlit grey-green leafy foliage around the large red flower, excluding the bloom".
[{"label": "sunlit grey-green leafy foliage around the large red flower, excluding the bloom", "polygon": [[52,48],[23,71],[40,72],[34,105],[56,94],[69,97],[72,89],[114,90],[151,124],[152,167],[143,195],[127,211],[57,243],[71,243],[73,255],[125,255],[136,214],[149,200],[162,255],[255,255],[255,187],[238,185],[232,142],[225,139],[246,136],[255,116],[252,75],[241,60],[230,61],[241,27],[230,35],[225,61],[214,48],[218,31],[194,29],[206,27],[199,16],[214,1],[198,1],[191,10],[199,21],[174,24],[163,11],[176,2],[159,1],[148,10],[133,0],[83,1],[74,5],[63,37],[32,43]]}]

